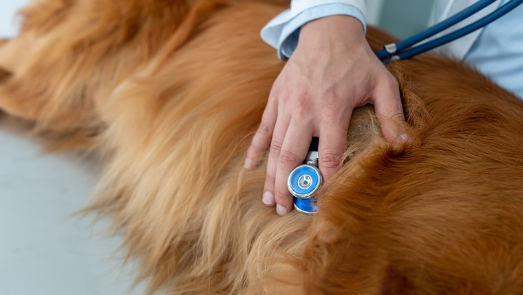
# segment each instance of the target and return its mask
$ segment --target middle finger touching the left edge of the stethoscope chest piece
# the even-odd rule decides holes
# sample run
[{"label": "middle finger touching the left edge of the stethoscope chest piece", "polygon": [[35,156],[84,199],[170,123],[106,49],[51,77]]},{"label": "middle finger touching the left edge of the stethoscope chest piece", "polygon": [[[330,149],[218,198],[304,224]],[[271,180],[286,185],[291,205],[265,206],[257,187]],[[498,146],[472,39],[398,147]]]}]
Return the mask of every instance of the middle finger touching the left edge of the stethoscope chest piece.
[{"label": "middle finger touching the left edge of the stethoscope chest piece", "polygon": [[307,156],[312,130],[312,126],[301,120],[290,122],[279,153],[275,178],[276,212],[279,215],[286,215],[292,210],[292,195],[287,187],[287,179],[292,169],[303,163]]}]

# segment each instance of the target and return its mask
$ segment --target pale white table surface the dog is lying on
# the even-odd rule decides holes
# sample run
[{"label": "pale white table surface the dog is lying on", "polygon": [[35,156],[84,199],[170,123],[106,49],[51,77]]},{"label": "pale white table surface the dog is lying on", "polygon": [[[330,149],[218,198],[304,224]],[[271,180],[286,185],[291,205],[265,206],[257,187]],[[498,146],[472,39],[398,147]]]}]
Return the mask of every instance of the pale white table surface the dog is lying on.
[{"label": "pale white table surface the dog is lying on", "polygon": [[[15,36],[14,12],[25,0],[0,0],[0,38]],[[75,154],[45,154],[38,139],[0,115],[0,294],[118,295],[133,267],[122,267],[121,237],[109,220],[72,216],[89,198],[98,173]]]}]

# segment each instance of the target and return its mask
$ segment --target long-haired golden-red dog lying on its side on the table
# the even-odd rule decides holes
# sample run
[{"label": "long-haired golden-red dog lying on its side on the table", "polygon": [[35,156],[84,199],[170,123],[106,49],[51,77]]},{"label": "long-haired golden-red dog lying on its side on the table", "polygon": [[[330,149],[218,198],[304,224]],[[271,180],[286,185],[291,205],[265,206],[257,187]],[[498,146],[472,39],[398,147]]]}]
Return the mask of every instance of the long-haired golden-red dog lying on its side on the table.
[{"label": "long-haired golden-red dog lying on its side on the table", "polygon": [[412,143],[356,110],[319,213],[264,206],[265,162],[243,163],[284,64],[259,29],[286,5],[34,1],[0,45],[0,108],[103,158],[88,209],[151,294],[523,294],[523,102],[459,62],[389,64]]}]

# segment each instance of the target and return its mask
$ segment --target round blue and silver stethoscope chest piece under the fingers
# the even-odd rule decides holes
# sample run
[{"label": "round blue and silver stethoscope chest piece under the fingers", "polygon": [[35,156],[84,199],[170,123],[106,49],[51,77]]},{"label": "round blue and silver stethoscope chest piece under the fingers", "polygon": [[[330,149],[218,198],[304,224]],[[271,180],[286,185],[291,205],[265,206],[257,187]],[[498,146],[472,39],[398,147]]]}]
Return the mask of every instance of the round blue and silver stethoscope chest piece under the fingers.
[{"label": "round blue and silver stethoscope chest piece under the fingers", "polygon": [[323,182],[318,169],[318,143],[319,139],[314,137],[303,161],[305,164],[293,169],[287,180],[287,187],[294,196],[294,207],[301,213],[314,214],[318,211],[316,194]]}]

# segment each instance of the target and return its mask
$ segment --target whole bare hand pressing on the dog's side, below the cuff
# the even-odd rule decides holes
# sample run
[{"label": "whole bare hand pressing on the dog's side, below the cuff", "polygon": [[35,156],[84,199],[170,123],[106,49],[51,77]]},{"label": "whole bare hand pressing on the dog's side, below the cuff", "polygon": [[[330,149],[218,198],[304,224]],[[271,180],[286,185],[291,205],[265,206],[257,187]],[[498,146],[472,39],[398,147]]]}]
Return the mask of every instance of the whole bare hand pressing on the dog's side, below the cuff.
[{"label": "whole bare hand pressing on the dog's side, below the cuff", "polygon": [[287,178],[319,137],[319,169],[327,181],[347,145],[352,110],[374,104],[387,141],[405,121],[396,79],[376,58],[360,21],[329,16],[301,28],[299,43],[270,91],[245,167],[257,167],[270,145],[263,202],[279,215],[292,210]]}]

